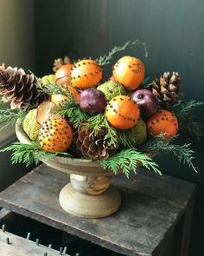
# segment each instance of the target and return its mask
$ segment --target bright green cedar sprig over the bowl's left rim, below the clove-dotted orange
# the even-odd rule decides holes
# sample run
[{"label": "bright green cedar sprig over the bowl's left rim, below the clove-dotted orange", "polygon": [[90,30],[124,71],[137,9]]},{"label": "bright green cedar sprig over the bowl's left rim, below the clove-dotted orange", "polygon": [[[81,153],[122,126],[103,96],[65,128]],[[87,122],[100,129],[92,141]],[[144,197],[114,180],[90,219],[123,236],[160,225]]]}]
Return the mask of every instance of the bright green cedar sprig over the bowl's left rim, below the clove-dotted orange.
[{"label": "bright green cedar sprig over the bowl's left rim, below the clove-dotted orange", "polygon": [[26,167],[35,163],[38,164],[43,157],[46,161],[50,161],[55,155],[65,155],[71,157],[68,153],[50,153],[41,148],[38,142],[31,141],[30,144],[23,144],[21,142],[14,142],[7,148],[3,148],[0,152],[12,151],[11,163],[24,163]]}]

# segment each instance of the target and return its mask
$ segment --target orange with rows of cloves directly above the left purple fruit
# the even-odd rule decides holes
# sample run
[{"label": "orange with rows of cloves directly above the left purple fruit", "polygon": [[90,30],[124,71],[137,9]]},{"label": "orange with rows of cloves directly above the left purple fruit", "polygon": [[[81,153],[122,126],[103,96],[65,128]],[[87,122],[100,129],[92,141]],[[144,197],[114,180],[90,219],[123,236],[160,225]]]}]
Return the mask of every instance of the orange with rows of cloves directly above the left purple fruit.
[{"label": "orange with rows of cloves directly above the left purple fruit", "polygon": [[71,70],[71,82],[74,87],[80,89],[96,87],[102,76],[99,64],[89,59],[76,62]]}]

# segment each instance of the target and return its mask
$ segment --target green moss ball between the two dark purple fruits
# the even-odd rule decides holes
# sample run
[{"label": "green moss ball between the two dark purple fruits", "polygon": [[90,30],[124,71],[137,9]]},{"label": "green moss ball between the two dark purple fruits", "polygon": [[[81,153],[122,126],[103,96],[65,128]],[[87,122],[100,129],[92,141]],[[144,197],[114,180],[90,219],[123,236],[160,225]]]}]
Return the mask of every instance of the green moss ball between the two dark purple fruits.
[{"label": "green moss ball between the two dark purple fruits", "polygon": [[127,94],[121,83],[114,82],[112,80],[101,83],[97,89],[101,90],[105,94],[107,102],[110,102],[112,98],[116,96]]}]

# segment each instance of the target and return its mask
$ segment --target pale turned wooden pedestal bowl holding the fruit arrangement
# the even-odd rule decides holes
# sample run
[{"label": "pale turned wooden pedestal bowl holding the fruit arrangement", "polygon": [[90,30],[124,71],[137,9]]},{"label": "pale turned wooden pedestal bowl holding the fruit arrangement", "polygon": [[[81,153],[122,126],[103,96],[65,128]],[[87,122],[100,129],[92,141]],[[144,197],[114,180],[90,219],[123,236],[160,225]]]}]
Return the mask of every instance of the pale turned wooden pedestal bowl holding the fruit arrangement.
[{"label": "pale turned wooden pedestal bowl holding the fruit arrangement", "polygon": [[[22,143],[31,141],[22,125],[16,123],[16,136]],[[76,216],[101,218],[115,213],[120,207],[118,189],[111,185],[112,173],[94,161],[54,156],[41,159],[48,167],[70,174],[70,183],[61,189],[61,207]]]}]

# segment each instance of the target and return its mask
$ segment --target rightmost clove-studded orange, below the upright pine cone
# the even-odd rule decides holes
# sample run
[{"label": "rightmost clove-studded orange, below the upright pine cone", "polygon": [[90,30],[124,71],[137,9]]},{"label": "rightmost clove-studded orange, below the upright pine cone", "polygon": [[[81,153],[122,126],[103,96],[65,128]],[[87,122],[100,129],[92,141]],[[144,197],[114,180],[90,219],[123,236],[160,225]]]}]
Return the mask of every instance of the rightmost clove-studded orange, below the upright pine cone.
[{"label": "rightmost clove-studded orange, below the upright pine cone", "polygon": [[167,110],[159,110],[147,121],[147,127],[154,136],[163,134],[165,140],[169,140],[178,131],[178,121],[174,114]]}]

